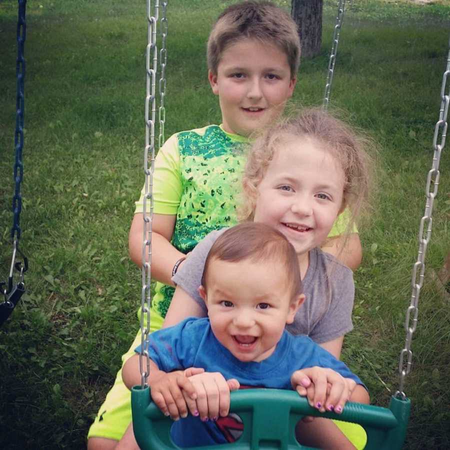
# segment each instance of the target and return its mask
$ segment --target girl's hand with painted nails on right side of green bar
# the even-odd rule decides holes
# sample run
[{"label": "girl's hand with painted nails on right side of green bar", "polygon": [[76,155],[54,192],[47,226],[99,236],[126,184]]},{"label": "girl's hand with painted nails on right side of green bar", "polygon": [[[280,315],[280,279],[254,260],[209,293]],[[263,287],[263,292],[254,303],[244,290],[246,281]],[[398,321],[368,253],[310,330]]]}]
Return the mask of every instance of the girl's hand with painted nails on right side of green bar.
[{"label": "girl's hand with painted nails on right side of green bar", "polygon": [[308,367],[296,370],[290,377],[292,387],[320,412],[340,414],[356,383],[329,368]]}]

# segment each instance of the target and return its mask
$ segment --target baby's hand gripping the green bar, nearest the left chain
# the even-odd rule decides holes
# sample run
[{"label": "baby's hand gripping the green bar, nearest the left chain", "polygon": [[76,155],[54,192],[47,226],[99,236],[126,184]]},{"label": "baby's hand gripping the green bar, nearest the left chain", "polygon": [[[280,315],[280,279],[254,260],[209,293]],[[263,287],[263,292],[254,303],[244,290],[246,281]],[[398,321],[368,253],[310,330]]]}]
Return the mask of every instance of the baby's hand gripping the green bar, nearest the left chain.
[{"label": "baby's hand gripping the green bar, nearest the left chain", "polygon": [[151,399],[164,415],[170,415],[173,420],[178,420],[180,416],[187,417],[185,398],[190,398],[195,402],[197,396],[188,377],[202,372],[204,369],[198,367],[189,367],[169,373],[153,370],[150,380]]}]

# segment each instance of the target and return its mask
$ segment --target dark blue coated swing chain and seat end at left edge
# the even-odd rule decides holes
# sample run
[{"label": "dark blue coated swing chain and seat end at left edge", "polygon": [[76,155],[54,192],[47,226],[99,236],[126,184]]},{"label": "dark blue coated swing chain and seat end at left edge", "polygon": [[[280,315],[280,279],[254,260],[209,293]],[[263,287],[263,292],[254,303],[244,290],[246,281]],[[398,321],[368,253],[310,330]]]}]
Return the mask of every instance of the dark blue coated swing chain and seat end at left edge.
[{"label": "dark blue coated swing chain and seat end at left edge", "polygon": [[[22,196],[20,194],[20,183],[23,178],[22,148],[23,148],[23,115],[25,105],[24,80],[25,80],[25,58],[24,43],[26,37],[25,23],[26,0],[18,0],[17,18],[17,59],[15,74],[17,78],[16,113],[15,113],[15,161],[14,161],[14,196],[12,198],[12,228],[11,238],[13,242],[11,265],[7,283],[1,282],[0,289],[4,295],[4,301],[0,303],[0,324],[11,314],[18,300],[24,293],[23,273],[28,269],[28,260],[20,251],[18,242],[20,239],[20,211],[22,209]],[[23,258],[15,262],[17,252]],[[18,283],[13,286],[14,269],[20,272]],[[3,287],[3,285],[6,285]]]}]

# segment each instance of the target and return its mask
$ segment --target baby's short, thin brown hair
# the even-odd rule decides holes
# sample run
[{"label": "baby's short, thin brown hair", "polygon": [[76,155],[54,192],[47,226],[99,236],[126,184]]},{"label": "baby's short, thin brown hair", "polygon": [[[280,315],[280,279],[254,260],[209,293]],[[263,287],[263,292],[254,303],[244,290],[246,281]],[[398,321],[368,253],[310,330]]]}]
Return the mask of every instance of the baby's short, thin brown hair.
[{"label": "baby's short, thin brown hair", "polygon": [[292,244],[275,228],[259,222],[244,222],[225,230],[213,243],[204,263],[202,286],[206,287],[207,271],[213,259],[227,262],[250,260],[281,264],[285,269],[284,286],[290,289],[290,298],[302,293],[300,268]]}]

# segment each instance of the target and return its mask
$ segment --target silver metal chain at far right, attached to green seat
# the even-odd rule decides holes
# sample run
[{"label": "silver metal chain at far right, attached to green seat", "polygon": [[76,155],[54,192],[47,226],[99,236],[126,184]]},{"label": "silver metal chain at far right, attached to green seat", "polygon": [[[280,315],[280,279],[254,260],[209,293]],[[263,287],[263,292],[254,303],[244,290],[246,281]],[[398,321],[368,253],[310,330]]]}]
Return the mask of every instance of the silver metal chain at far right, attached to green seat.
[{"label": "silver metal chain at far right, attached to green seat", "polygon": [[[437,188],[439,185],[439,160],[440,154],[445,145],[445,135],[447,132],[447,112],[448,112],[448,104],[450,103],[450,82],[447,85],[448,78],[450,78],[450,39],[448,41],[447,66],[442,76],[442,86],[440,89],[441,102],[439,110],[439,120],[437,120],[436,125],[434,126],[433,159],[431,169],[428,171],[428,175],[426,177],[425,212],[423,214],[423,217],[420,219],[420,226],[418,233],[418,244],[419,244],[418,255],[417,261],[414,263],[412,267],[411,301],[410,305],[406,310],[406,319],[404,324],[406,330],[406,339],[404,348],[400,352],[400,359],[398,362],[400,383],[398,390],[395,392],[395,396],[400,397],[403,400],[406,398],[406,395],[403,392],[404,379],[406,375],[411,371],[412,367],[412,351],[411,351],[412,334],[414,333],[417,327],[418,301],[425,273],[425,263],[424,263],[425,253],[426,247],[431,237],[431,225],[432,225],[431,213],[433,209],[434,198],[437,195]],[[440,142],[437,143],[439,136]]]}]

